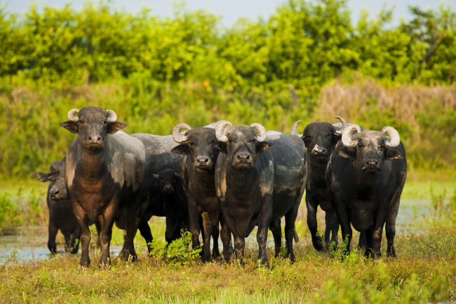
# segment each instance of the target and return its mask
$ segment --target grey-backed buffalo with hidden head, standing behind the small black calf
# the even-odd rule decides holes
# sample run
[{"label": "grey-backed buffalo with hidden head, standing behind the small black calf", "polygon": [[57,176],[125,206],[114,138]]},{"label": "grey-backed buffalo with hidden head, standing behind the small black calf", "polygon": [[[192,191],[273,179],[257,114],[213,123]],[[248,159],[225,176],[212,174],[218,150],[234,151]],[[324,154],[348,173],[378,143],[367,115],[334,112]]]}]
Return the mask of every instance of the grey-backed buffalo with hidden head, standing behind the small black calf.
[{"label": "grey-backed buffalo with hidden head, standing behind the small black calf", "polygon": [[[150,243],[153,237],[148,221],[152,216],[166,216],[163,193],[159,180],[154,177],[154,174],[159,174],[165,169],[174,170],[179,174],[182,156],[171,152],[177,146],[172,135],[135,133],[130,136],[139,139],[146,152],[145,173],[137,212],[140,217],[138,229],[146,241],[150,254],[152,250]],[[121,214],[123,213],[121,211]]]}]

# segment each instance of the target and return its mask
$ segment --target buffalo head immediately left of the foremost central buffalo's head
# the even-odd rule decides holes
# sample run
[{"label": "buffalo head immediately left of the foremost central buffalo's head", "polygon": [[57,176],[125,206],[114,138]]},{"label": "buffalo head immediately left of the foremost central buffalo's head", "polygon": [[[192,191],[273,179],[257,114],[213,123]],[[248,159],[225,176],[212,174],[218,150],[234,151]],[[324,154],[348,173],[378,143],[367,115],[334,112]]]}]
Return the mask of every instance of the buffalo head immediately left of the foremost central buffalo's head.
[{"label": "buffalo head immediately left of the foremost central buffalo's head", "polygon": [[[187,132],[181,134],[184,129],[187,129]],[[214,169],[220,153],[220,143],[215,137],[215,129],[211,127],[192,129],[189,125],[180,123],[174,127],[173,139],[179,145],[171,151],[189,156],[190,162],[196,170]]]}]

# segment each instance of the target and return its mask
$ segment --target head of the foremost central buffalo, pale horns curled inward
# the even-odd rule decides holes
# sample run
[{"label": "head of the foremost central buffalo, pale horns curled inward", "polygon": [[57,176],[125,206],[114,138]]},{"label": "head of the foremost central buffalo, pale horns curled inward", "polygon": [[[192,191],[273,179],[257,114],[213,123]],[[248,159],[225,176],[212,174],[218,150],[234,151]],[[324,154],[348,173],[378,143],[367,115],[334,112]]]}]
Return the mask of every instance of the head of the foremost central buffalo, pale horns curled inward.
[{"label": "head of the foremost central buffalo, pale horns curled inward", "polygon": [[259,123],[233,126],[227,120],[215,125],[217,140],[225,144],[222,149],[227,161],[237,169],[250,169],[255,165],[257,153],[263,153],[273,144],[265,141],[266,130]]}]

